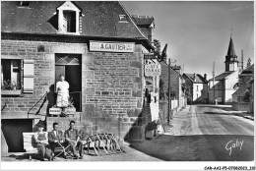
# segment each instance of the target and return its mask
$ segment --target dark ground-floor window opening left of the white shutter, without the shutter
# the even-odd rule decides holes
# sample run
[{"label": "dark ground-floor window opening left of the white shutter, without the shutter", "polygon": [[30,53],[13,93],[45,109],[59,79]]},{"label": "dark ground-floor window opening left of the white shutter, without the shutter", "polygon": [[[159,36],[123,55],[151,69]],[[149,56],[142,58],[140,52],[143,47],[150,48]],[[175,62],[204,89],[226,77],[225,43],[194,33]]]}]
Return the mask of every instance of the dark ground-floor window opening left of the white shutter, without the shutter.
[{"label": "dark ground-floor window opening left of the white shutter, without the shutter", "polygon": [[21,89],[21,60],[2,59],[2,90]]}]

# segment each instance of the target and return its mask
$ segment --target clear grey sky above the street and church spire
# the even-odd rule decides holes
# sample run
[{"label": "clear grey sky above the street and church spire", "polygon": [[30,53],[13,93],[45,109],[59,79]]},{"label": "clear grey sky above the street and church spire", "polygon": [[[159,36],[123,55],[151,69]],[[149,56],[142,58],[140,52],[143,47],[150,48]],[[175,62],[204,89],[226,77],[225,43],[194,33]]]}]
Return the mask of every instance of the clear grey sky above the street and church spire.
[{"label": "clear grey sky above the street and church spire", "polygon": [[167,43],[172,65],[184,65],[184,73],[213,77],[224,72],[230,35],[239,61],[254,63],[253,1],[122,1],[131,15],[154,17],[154,38],[161,49]]}]

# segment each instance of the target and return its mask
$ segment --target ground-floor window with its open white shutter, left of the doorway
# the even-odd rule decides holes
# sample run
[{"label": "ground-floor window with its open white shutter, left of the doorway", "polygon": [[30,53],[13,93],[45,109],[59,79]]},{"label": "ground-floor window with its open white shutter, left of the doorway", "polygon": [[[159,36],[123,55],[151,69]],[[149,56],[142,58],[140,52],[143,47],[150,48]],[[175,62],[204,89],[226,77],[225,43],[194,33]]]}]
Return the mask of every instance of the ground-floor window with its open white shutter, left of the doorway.
[{"label": "ground-floor window with its open white shutter, left of the doorway", "polygon": [[33,60],[1,59],[1,94],[33,92]]}]

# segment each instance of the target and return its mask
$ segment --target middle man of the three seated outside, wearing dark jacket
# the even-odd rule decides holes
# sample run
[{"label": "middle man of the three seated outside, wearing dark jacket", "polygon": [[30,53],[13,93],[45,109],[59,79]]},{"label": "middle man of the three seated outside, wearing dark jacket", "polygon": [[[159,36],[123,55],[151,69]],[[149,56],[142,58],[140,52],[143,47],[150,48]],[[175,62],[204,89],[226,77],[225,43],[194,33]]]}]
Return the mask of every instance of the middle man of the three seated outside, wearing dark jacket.
[{"label": "middle man of the three seated outside, wearing dark jacket", "polygon": [[[49,132],[48,139],[49,139],[51,150],[54,152],[54,149],[56,147],[61,147],[61,145],[64,142],[64,137],[63,137],[62,131],[58,130],[58,123],[54,122],[52,127],[53,127],[53,130]],[[64,151],[63,157],[66,158],[65,151]]]}]

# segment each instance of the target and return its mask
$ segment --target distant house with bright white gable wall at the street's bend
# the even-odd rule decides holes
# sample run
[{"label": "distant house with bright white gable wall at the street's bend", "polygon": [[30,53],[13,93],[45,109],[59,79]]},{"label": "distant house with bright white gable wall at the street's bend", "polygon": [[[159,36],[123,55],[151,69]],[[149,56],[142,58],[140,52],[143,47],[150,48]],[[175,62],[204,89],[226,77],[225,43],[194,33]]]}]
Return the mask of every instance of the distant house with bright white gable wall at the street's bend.
[{"label": "distant house with bright white gable wall at the street's bend", "polygon": [[208,81],[207,75],[183,74],[185,84],[189,87],[188,103],[207,103],[208,101]]}]

